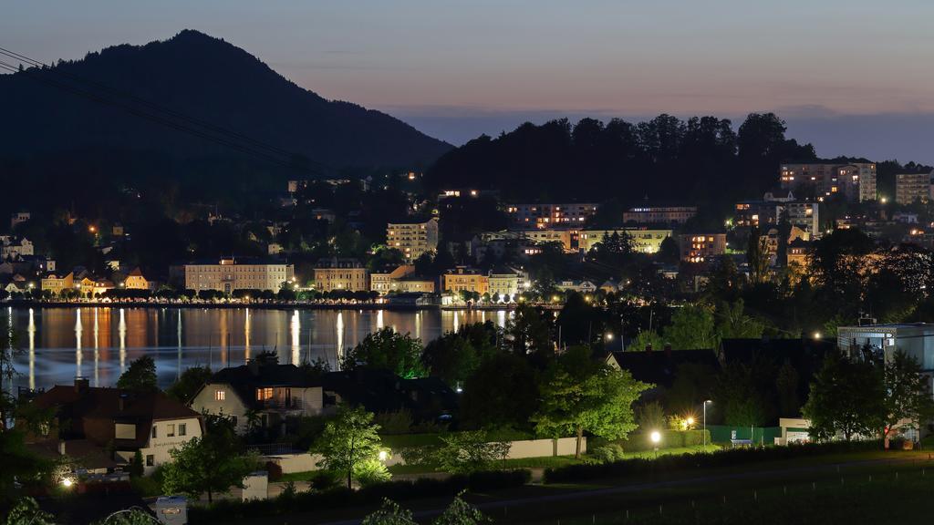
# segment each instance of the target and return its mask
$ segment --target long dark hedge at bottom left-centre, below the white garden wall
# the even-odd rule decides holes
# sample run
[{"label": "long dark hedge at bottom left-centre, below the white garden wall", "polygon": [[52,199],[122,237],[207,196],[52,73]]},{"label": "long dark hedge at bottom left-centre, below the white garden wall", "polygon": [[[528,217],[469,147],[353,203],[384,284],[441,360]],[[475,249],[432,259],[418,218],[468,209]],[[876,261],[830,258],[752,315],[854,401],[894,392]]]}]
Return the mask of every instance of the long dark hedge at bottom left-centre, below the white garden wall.
[{"label": "long dark hedge at bottom left-centre, below the white garden wall", "polygon": [[398,502],[415,498],[454,497],[462,490],[502,490],[525,485],[529,481],[529,470],[476,472],[470,475],[452,475],[446,479],[389,481],[363,487],[361,490],[347,490],[346,487],[342,487],[295,494],[284,493],[272,500],[221,500],[206,506],[192,505],[188,514],[191,523],[223,523],[241,518],[264,518],[293,512],[378,504],[383,498]]}]

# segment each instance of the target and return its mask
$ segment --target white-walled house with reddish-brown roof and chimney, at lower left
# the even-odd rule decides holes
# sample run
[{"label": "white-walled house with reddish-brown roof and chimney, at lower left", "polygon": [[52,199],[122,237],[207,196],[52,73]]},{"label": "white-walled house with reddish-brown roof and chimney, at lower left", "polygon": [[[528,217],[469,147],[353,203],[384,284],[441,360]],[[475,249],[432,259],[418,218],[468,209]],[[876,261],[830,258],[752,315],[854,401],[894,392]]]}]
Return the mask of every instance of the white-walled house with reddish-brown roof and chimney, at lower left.
[{"label": "white-walled house with reddish-brown roof and chimney, at lower left", "polygon": [[138,450],[145,474],[171,461],[169,450],[202,434],[201,414],[162,392],[97,388],[88,379],[56,385],[32,402],[54,410],[27,444],[47,456],[67,456],[82,468],[109,472]]}]

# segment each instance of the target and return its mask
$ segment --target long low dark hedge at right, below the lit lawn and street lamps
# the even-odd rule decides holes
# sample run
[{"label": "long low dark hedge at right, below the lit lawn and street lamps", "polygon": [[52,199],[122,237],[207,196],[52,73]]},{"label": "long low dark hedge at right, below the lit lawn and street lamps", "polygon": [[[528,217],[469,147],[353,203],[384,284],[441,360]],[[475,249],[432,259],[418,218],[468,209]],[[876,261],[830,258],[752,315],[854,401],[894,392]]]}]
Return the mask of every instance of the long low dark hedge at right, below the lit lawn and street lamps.
[{"label": "long low dark hedge at right, below the lit lawn and street lamps", "polygon": [[664,455],[658,459],[632,459],[607,463],[586,463],[545,469],[545,483],[568,483],[586,479],[629,477],[687,468],[715,468],[757,461],[794,458],[881,448],[878,441],[833,442],[789,445],[787,447],[729,448],[711,453]]}]

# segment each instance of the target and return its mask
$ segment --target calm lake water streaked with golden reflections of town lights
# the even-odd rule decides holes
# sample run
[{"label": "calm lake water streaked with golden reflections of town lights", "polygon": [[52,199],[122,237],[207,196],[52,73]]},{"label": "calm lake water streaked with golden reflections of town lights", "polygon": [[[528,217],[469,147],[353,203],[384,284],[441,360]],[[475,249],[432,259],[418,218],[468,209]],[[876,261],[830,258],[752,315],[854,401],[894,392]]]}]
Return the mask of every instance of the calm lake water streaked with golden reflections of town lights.
[{"label": "calm lake water streaked with golden reflections of town lights", "polygon": [[279,362],[322,358],[333,366],[345,350],[386,326],[427,343],[466,323],[491,320],[504,326],[511,316],[505,310],[5,309],[0,327],[13,333],[23,350],[15,360],[14,391],[72,384],[76,376],[87,377],[92,386],[113,386],[143,355],[155,360],[163,388],[191,366],[219,370],[264,349],[276,351]]}]

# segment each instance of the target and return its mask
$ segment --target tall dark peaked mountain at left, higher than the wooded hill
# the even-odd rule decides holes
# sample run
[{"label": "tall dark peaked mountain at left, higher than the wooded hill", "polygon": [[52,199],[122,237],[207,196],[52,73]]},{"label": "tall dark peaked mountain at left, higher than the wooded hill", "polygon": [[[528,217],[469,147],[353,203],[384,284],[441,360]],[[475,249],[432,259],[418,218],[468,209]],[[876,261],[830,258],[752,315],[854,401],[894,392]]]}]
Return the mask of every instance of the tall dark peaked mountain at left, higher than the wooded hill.
[{"label": "tall dark peaked mountain at left, higher than the wooded hill", "polygon": [[[77,78],[127,96],[114,97]],[[7,103],[0,156],[139,151],[176,160],[222,158],[225,163],[244,156],[52,87],[49,81],[79,86],[108,101],[139,97],[285,149],[279,156],[286,163],[324,171],[417,167],[450,149],[389,115],[307,91],[232,44],[185,30],[145,46],[115,46],[48,69],[0,76],[0,100]]]}]

